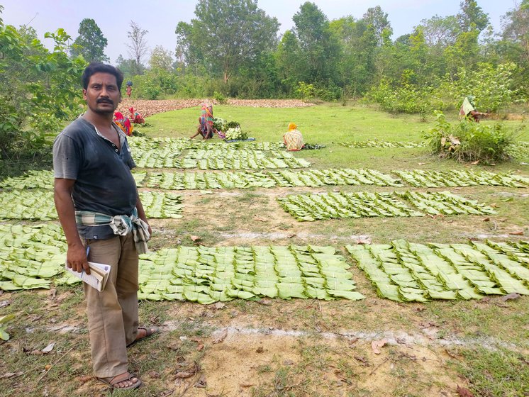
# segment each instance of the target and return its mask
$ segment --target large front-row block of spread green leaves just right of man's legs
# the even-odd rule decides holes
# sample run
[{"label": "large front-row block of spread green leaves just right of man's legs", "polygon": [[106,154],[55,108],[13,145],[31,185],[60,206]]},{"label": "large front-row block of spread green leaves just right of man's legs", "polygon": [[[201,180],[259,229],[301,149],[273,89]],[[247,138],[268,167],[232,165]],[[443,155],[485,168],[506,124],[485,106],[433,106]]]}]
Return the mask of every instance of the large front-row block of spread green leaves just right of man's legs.
[{"label": "large front-row block of spread green leaves just right of man's legs", "polygon": [[364,298],[334,247],[178,247],[140,256],[140,293],[203,304],[234,298]]}]

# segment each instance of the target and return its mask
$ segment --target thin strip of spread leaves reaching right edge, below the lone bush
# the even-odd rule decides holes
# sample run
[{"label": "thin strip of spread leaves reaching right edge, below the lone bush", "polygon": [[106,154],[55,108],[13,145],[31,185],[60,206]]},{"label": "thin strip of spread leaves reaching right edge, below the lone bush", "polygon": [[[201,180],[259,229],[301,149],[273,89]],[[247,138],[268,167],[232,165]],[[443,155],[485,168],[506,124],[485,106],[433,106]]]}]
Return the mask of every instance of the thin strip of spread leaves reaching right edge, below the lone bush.
[{"label": "thin strip of spread leaves reaching right edge, below the lone bush", "polygon": [[394,171],[406,183],[416,187],[455,187],[455,186],[508,186],[527,187],[529,178],[512,173],[487,171],[424,171],[412,169],[407,171]]}]

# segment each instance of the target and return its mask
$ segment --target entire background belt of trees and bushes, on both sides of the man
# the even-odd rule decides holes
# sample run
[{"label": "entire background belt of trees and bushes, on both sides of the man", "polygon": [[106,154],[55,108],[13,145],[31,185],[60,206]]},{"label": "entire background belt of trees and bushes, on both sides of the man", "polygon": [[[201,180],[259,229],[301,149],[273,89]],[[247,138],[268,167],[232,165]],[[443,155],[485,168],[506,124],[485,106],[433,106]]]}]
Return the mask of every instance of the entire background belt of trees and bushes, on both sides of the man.
[{"label": "entire background belt of trees and bushes, on both sides of the man", "polygon": [[[306,2],[292,20],[279,37],[277,18],[255,0],[199,0],[195,18],[177,23],[176,52],[150,51],[147,30],[131,21],[129,58],[117,63],[133,95],[146,99],[362,98],[386,111],[427,115],[460,106],[467,94],[484,111],[529,95],[529,0],[503,16],[500,33],[476,0],[396,40],[380,6],[359,19],[329,21]],[[82,69],[108,57],[96,21],[84,19],[78,33],[73,43],[62,29],[46,33],[55,43],[48,50],[33,28],[0,18],[0,167],[46,155],[44,142],[82,111]]]}]

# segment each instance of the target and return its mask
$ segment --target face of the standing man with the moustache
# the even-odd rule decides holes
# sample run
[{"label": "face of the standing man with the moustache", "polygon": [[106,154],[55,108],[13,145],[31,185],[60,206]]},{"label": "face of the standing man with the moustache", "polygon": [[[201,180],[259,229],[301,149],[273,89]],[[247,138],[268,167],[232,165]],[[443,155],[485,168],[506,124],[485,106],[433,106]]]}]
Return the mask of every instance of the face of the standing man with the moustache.
[{"label": "face of the standing man with the moustache", "polygon": [[113,114],[121,100],[116,76],[103,72],[92,74],[87,89],[83,89],[83,99],[94,113]]}]

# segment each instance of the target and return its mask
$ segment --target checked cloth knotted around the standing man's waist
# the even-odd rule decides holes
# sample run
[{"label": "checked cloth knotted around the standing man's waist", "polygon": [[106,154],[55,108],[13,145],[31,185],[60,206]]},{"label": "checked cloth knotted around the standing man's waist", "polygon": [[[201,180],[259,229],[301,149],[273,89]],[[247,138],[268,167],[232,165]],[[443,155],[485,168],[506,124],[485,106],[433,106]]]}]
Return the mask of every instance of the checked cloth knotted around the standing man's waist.
[{"label": "checked cloth knotted around the standing man's waist", "polygon": [[138,209],[132,215],[106,215],[92,211],[75,211],[75,221],[83,226],[109,225],[115,235],[128,235],[132,232],[138,254],[147,252],[147,241],[150,240],[149,225],[138,218]]}]

